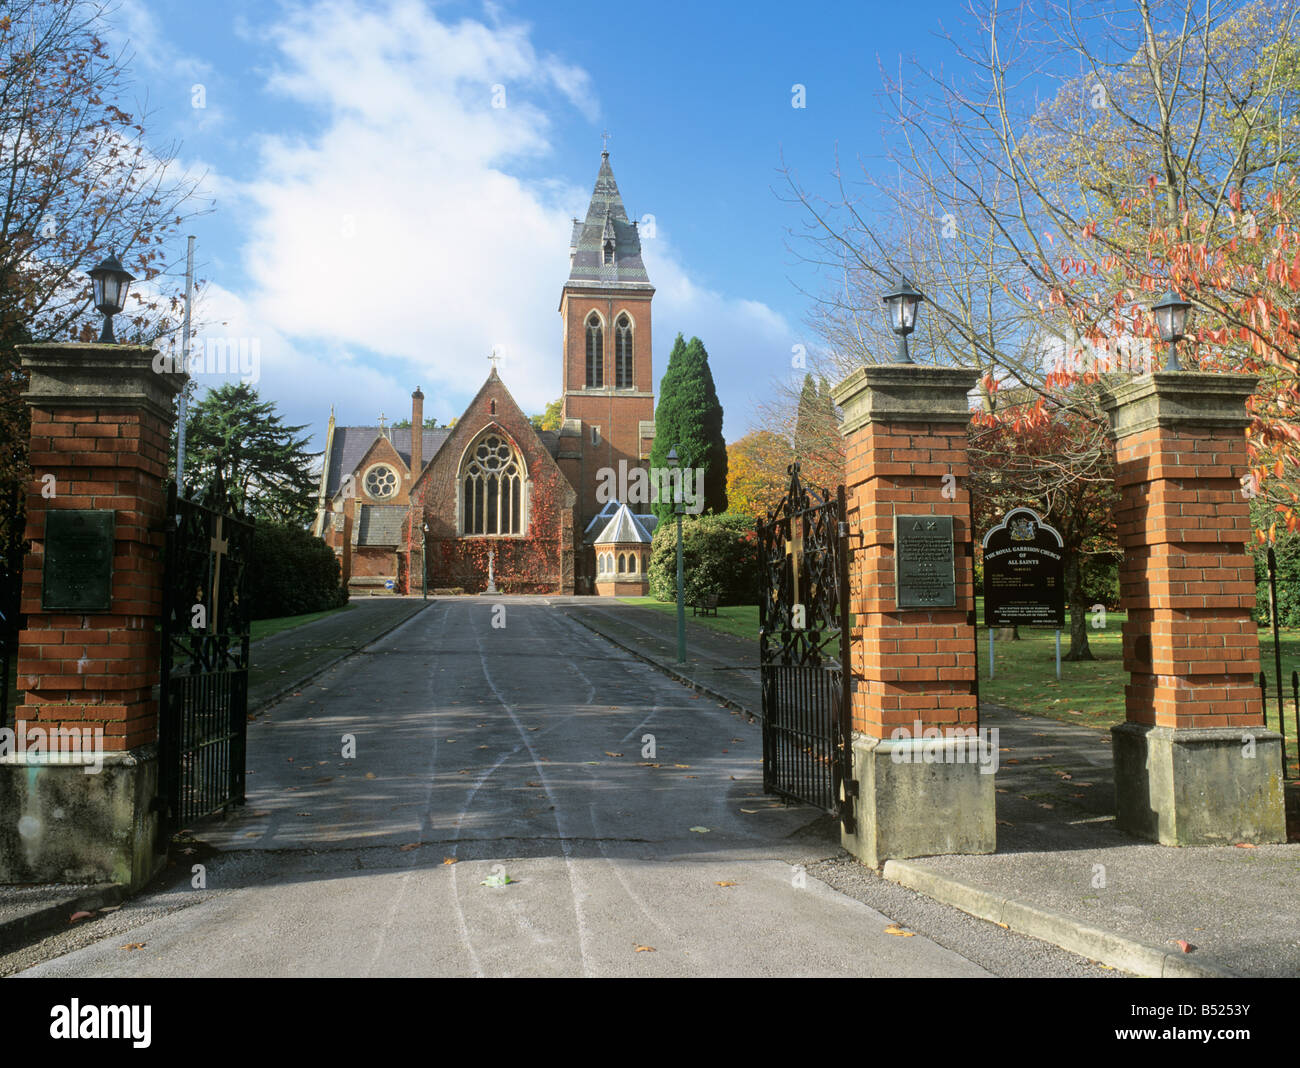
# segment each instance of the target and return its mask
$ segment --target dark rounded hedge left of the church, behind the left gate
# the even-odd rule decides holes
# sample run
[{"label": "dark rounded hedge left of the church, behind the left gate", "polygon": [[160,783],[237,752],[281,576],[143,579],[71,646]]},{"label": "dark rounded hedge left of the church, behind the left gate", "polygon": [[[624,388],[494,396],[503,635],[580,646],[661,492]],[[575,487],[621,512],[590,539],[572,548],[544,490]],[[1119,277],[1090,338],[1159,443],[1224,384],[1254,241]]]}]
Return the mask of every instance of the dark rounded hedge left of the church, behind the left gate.
[{"label": "dark rounded hedge left of the church, behind the left gate", "polygon": [[255,620],[347,604],[334,550],[306,530],[265,521],[254,530],[244,596]]}]

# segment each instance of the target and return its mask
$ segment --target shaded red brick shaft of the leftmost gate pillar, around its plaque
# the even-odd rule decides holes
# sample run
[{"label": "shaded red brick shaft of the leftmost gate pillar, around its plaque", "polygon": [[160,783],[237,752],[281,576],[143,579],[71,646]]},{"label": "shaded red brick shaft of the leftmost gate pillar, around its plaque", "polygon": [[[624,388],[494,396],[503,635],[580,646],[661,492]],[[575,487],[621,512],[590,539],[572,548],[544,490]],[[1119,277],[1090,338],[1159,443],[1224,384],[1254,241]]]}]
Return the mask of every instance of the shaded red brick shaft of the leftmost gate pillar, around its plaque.
[{"label": "shaded red brick shaft of the leftmost gate pillar, around its plaque", "polygon": [[[159,638],[162,603],[162,534],[152,526],[165,511],[162,479],[168,427],[134,411],[31,409],[27,529],[23,566],[18,686],[26,690],[18,718],[51,728],[103,728],[107,750],[129,750],[157,738]],[[56,496],[42,495],[46,474]],[[113,600],[108,612],[44,613],[40,608],[47,511],[110,508],[116,513]]]}]

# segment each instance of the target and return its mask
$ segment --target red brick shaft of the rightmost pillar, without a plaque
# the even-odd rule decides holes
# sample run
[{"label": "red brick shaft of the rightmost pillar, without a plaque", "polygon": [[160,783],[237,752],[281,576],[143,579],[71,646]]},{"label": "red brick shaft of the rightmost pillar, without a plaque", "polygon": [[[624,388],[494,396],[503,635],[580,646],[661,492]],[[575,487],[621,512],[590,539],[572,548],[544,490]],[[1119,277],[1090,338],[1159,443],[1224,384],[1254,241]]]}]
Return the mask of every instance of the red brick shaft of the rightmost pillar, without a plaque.
[{"label": "red brick shaft of the rightmost pillar, without a plaque", "polygon": [[1128,720],[1261,726],[1243,431],[1153,427],[1115,446]]}]

